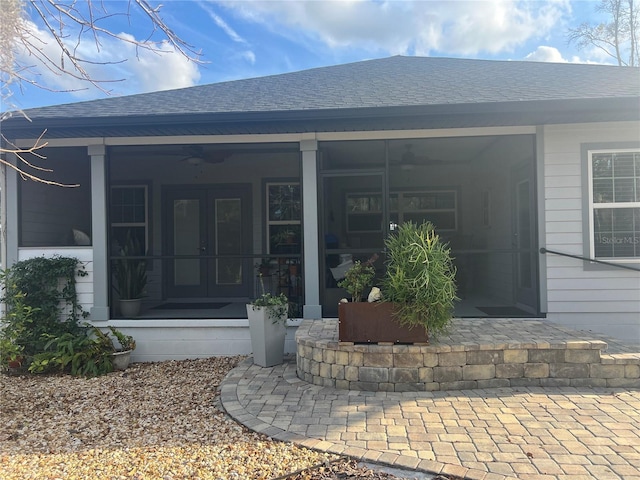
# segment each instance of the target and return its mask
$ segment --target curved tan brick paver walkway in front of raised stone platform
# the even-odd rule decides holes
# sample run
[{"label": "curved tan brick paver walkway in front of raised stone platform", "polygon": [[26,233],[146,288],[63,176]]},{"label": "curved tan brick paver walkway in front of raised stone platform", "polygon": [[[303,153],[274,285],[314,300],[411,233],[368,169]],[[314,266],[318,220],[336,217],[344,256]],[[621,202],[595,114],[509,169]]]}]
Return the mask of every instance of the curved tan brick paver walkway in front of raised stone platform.
[{"label": "curved tan brick paver walkway in front of raised stone platform", "polygon": [[640,479],[640,391],[522,387],[364,392],[244,360],[221,385],[252,430],[310,448],[469,479]]}]

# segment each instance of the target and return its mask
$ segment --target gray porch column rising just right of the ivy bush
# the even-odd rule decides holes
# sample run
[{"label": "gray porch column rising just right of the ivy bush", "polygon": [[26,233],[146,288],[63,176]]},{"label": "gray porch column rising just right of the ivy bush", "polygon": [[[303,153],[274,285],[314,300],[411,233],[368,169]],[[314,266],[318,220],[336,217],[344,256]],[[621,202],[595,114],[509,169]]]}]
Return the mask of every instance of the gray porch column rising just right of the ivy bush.
[{"label": "gray porch column rising just right of the ivy bush", "polygon": [[106,147],[89,145],[91,157],[91,238],[93,245],[93,307],[91,320],[109,320],[109,249],[107,248]]}]

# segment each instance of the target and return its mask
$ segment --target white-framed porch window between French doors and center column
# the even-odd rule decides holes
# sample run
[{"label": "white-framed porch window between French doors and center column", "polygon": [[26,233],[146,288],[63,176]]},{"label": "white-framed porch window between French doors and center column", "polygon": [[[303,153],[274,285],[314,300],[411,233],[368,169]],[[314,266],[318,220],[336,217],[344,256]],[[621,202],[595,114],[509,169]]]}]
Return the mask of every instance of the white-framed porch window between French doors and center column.
[{"label": "white-framed porch window between French doors and center column", "polygon": [[269,253],[300,253],[301,199],[296,182],[267,183]]}]

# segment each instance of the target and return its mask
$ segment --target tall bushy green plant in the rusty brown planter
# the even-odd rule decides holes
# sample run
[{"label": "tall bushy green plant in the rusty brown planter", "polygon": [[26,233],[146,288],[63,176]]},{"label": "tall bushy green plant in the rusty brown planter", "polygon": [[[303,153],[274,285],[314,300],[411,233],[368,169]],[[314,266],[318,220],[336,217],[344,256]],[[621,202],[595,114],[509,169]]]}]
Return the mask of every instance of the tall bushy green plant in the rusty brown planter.
[{"label": "tall bushy green plant in the rusty brown planter", "polygon": [[407,222],[386,241],[387,271],[382,292],[394,303],[403,326],[422,327],[431,337],[446,332],[453,317],[456,269],[451,249],[430,222]]}]

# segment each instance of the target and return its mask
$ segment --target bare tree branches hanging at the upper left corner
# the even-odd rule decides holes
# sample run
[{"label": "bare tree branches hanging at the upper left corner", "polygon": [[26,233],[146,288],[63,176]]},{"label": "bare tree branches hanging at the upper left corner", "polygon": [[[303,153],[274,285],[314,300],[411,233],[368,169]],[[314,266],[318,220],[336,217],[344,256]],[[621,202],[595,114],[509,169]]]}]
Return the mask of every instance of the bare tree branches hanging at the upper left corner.
[{"label": "bare tree branches hanging at the upper left corner", "polygon": [[[95,46],[95,51],[103,48],[104,39],[113,39],[133,45],[136,55],[141,50],[158,54],[167,53],[167,45],[177,54],[187,60],[201,63],[200,52],[177,35],[164,21],[160,13],[161,6],[152,6],[149,0],[128,0],[126,7],[123,2],[95,2],[94,0],[0,0],[0,80],[1,98],[5,111],[0,113],[0,122],[7,120],[14,114],[24,112],[15,108],[10,102],[13,94],[11,87],[33,85],[49,91],[77,91],[82,88],[53,90],[40,82],[40,71],[46,70],[60,77],[69,77],[85,83],[88,88],[93,86],[105,94],[109,90],[105,85],[124,79],[96,78],[88,69],[90,65],[115,65],[126,61],[102,61],[88,57],[80,48],[87,40]],[[148,20],[150,31],[144,40],[138,40],[132,35],[123,34],[110,27],[110,21],[119,17],[127,19],[131,25],[133,16],[138,13]],[[139,25],[139,18],[135,20]],[[37,25],[44,29],[57,46],[58,53],[52,54],[51,45],[38,35]],[[23,63],[17,53],[22,51],[33,62]],[[13,111],[11,111],[13,109]],[[28,119],[28,118],[27,118]],[[29,179],[48,185],[72,187],[42,178],[43,173],[51,172],[37,162],[45,159],[39,151],[47,143],[43,141],[42,133],[29,148],[19,148],[12,144],[4,135],[0,136],[0,164],[6,165],[18,172],[23,179]],[[7,160],[7,155],[13,154],[16,164]],[[32,159],[33,158],[33,159]],[[33,173],[31,172],[33,171]]]}]

